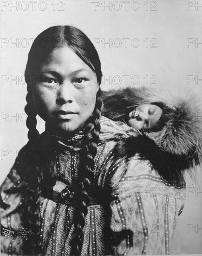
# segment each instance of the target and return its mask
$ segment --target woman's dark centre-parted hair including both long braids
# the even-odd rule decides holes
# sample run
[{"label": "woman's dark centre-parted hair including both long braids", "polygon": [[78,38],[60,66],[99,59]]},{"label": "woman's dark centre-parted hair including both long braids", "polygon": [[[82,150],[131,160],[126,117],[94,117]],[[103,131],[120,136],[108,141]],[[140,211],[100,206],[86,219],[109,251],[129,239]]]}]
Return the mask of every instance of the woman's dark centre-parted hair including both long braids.
[{"label": "woman's dark centre-parted hair including both long braids", "polygon": [[[37,72],[41,61],[43,61],[48,54],[52,52],[54,48],[68,46],[72,51],[78,55],[78,57],[84,61],[96,74],[98,84],[100,85],[102,79],[101,64],[98,53],[93,46],[91,40],[78,28],[72,26],[55,26],[49,27],[34,40],[33,45],[28,55],[28,61],[25,70],[25,79],[27,83],[27,95],[26,95],[26,107],[25,112],[27,114],[26,126],[28,131],[28,148],[38,148],[39,132],[36,129],[37,121],[35,108],[33,105],[33,95],[31,92],[31,76]],[[85,225],[85,216],[87,215],[87,206],[89,204],[88,193],[91,192],[93,182],[93,168],[94,157],[97,154],[97,144],[99,140],[102,97],[101,90],[98,90],[95,108],[89,120],[85,123],[85,147],[82,152],[81,167],[84,166],[78,175],[78,184],[76,190],[78,191],[78,207],[76,209],[76,217],[74,219],[75,236],[72,240],[73,253],[75,255],[80,254],[82,246],[83,233],[82,229]],[[39,195],[40,195],[40,182],[41,174],[38,173],[40,167],[39,159],[35,161],[33,165],[34,171],[37,173],[37,180],[39,189],[37,190],[37,196],[29,196],[28,204],[28,223],[34,227],[37,231],[33,236],[33,254],[37,255],[41,252],[40,241],[40,218],[39,218]]]}]

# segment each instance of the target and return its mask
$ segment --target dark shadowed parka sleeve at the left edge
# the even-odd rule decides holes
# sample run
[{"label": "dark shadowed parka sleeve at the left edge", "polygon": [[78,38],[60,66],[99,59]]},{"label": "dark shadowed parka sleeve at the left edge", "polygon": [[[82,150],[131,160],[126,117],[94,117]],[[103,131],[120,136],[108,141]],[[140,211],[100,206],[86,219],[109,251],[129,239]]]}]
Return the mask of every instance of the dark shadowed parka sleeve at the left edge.
[{"label": "dark shadowed parka sleeve at the left edge", "polygon": [[22,246],[30,235],[23,224],[27,183],[20,176],[22,164],[17,157],[0,189],[2,255],[23,255]]}]

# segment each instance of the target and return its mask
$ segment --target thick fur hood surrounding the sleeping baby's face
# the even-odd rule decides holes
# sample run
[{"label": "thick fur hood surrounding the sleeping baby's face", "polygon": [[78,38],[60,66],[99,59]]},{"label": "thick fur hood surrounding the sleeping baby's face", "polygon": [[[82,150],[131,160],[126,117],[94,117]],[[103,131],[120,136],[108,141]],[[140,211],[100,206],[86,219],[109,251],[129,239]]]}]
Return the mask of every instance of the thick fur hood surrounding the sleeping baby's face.
[{"label": "thick fur hood surrounding the sleeping baby's face", "polygon": [[127,138],[118,142],[117,154],[139,151],[149,160],[152,158],[158,171],[166,168],[164,171],[172,174],[173,170],[182,173],[201,164],[200,100],[190,88],[127,87],[103,92],[103,100],[103,115],[112,120],[130,113],[140,104],[158,102],[167,109],[167,121],[160,131],[146,133],[130,129]]}]

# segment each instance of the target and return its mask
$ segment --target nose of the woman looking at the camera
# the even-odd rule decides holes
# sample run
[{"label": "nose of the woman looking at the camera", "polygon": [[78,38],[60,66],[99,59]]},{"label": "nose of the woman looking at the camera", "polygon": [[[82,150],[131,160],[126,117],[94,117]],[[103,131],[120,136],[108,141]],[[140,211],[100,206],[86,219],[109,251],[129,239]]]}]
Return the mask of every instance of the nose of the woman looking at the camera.
[{"label": "nose of the woman looking at the camera", "polygon": [[57,103],[62,105],[67,102],[71,103],[74,99],[74,87],[72,86],[71,83],[65,82],[63,83],[58,91],[58,96],[57,96]]}]

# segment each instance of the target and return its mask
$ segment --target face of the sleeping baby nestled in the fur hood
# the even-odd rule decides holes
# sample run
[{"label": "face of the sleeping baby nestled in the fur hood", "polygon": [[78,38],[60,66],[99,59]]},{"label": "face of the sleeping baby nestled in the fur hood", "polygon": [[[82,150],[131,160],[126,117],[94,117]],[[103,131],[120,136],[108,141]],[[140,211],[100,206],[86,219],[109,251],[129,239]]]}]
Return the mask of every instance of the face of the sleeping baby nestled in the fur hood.
[{"label": "face of the sleeping baby nestled in the fur hood", "polygon": [[156,126],[163,110],[153,104],[142,104],[129,113],[128,125],[138,130],[150,130]]}]

